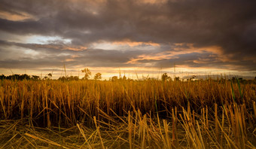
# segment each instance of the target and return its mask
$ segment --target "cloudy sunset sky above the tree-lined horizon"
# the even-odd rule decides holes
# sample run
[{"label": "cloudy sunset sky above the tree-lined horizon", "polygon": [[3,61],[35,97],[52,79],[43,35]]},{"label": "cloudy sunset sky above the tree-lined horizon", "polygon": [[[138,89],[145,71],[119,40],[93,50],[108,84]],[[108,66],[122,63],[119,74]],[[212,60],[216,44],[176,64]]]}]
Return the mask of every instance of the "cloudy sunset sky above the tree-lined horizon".
[{"label": "cloudy sunset sky above the tree-lined horizon", "polygon": [[255,0],[1,0],[0,74],[256,76]]}]

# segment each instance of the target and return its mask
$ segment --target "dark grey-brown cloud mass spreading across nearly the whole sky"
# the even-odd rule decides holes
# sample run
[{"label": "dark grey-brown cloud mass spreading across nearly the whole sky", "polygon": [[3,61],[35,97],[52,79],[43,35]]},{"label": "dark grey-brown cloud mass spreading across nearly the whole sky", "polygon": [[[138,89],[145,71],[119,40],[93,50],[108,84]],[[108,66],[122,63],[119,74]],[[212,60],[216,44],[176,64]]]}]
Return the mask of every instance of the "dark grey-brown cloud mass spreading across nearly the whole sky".
[{"label": "dark grey-brown cloud mass spreading across nearly the whole sky", "polygon": [[[47,44],[24,44],[0,41],[1,51],[22,47],[37,51],[40,59],[4,59],[0,67],[37,67],[44,65],[90,65],[102,67],[143,66],[168,68],[177,65],[255,71],[256,67],[256,9],[254,0],[197,0],[156,3],[123,1],[69,1],[69,0],[2,0],[0,11],[23,16],[26,20],[0,19],[0,30],[14,35],[45,35],[70,39],[70,44],[55,41]],[[100,50],[93,43],[114,41],[153,42],[158,50]],[[174,51],[175,43],[193,44],[194,48],[221,47],[221,53],[206,50],[178,54],[176,58],[131,59]],[[66,47],[88,47],[70,50]],[[189,46],[179,47],[180,50]],[[0,52],[1,52],[0,51]],[[5,54],[2,52],[2,54]],[[74,57],[75,55],[75,57]],[[24,54],[26,56],[26,54]],[[72,57],[73,56],[73,57]],[[228,57],[228,60],[222,59]],[[51,59],[52,61],[49,61]],[[128,62],[128,63],[127,63]],[[23,64],[23,65],[22,65]]]}]

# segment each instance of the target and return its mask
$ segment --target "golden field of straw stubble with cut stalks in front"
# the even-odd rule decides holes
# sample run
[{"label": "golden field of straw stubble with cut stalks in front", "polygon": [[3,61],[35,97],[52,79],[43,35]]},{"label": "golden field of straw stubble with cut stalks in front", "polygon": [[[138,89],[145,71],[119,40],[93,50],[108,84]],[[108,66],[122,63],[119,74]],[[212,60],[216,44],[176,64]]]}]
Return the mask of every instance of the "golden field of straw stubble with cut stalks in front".
[{"label": "golden field of straw stubble with cut stalks in front", "polygon": [[256,84],[0,81],[0,148],[255,148]]}]

